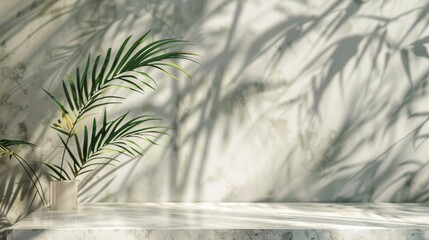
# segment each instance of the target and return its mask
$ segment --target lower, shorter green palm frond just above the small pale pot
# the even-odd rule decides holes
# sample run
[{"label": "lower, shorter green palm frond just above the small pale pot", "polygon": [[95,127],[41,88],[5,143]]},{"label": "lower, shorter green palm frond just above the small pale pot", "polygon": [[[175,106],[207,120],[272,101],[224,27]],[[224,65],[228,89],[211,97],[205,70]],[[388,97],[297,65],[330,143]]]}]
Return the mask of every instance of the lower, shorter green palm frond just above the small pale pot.
[{"label": "lower, shorter green palm frond just above the small pale pot", "polygon": [[[73,151],[66,141],[60,137],[67,156],[71,159],[68,163],[68,171],[61,171],[62,167],[50,164],[51,176],[55,179],[71,180],[88,171],[90,166],[104,163],[111,164],[110,154],[120,153],[128,157],[142,155],[142,141],[154,143],[154,133],[163,135],[166,128],[163,126],[149,125],[160,119],[153,115],[141,115],[127,119],[128,113],[108,121],[106,111],[103,114],[100,126],[97,119],[93,118],[91,126],[85,126],[83,142],[79,151]],[[91,130],[89,130],[91,129]],[[81,156],[76,152],[80,152]]]}]

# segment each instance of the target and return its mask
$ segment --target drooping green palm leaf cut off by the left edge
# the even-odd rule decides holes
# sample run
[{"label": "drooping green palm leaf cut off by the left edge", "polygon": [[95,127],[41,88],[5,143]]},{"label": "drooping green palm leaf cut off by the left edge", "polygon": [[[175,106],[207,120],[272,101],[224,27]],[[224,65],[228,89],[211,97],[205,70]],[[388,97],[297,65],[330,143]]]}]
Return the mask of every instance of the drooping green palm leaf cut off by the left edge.
[{"label": "drooping green palm leaf cut off by the left edge", "polygon": [[[26,174],[31,180],[34,188],[36,189],[37,194],[39,195],[42,203],[46,203],[46,198],[42,189],[42,184],[40,183],[39,177],[37,176],[36,171],[31,167],[31,165],[19,154],[12,150],[13,147],[17,146],[29,146],[35,147],[34,144],[21,140],[10,140],[10,139],[0,139],[0,157],[7,155],[9,159],[15,159],[19,165],[24,169]],[[40,191],[39,191],[40,188]]]}]

